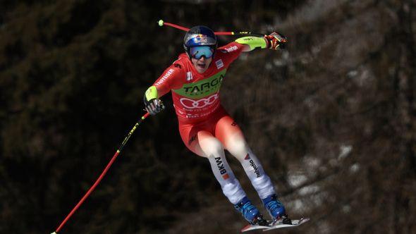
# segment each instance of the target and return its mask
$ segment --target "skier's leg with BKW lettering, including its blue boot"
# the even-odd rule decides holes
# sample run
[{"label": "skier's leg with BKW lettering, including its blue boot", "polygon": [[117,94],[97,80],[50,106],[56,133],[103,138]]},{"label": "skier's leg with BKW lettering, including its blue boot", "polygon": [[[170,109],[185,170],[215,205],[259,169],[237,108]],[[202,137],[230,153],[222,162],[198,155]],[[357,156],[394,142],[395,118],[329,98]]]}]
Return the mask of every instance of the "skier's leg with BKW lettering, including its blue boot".
[{"label": "skier's leg with BKW lettering, including its blue boot", "polygon": [[221,185],[224,195],[234,204],[235,209],[240,211],[249,223],[265,225],[266,221],[246,197],[243,188],[231,171],[221,142],[209,131],[200,130],[192,125],[180,124],[180,132],[188,149],[209,160],[216,180]]}]

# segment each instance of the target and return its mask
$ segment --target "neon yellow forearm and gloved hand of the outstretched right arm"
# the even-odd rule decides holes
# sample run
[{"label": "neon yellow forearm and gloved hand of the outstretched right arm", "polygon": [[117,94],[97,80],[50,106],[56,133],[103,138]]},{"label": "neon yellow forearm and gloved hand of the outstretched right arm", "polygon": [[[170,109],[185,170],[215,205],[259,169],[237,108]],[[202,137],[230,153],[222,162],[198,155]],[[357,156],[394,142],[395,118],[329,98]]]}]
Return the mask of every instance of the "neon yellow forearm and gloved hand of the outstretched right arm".
[{"label": "neon yellow forearm and gloved hand of the outstretched right arm", "polygon": [[264,35],[264,37],[240,37],[235,42],[243,44],[243,52],[247,52],[257,48],[284,49],[287,39],[278,32],[272,32],[270,35]]}]

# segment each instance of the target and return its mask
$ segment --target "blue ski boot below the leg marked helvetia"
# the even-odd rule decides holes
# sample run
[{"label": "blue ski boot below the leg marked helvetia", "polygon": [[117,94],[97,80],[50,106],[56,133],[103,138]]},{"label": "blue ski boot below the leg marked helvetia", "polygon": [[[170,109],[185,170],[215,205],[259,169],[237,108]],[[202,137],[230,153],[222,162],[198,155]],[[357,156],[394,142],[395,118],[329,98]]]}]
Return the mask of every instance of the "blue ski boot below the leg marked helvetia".
[{"label": "blue ski boot below the leg marked helvetia", "polygon": [[262,199],[262,201],[263,201],[264,207],[266,207],[271,217],[273,217],[272,225],[275,225],[277,223],[292,224],[292,221],[286,214],[285,207],[277,199],[277,195],[270,195]]}]

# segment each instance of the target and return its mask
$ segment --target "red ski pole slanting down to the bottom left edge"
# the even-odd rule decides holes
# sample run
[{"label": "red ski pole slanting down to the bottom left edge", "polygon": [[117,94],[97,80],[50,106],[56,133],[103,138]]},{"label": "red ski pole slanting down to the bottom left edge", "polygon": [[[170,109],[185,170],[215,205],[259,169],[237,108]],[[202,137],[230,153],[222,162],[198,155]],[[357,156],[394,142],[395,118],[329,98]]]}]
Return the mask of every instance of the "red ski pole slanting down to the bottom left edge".
[{"label": "red ski pole slanting down to the bottom left edge", "polygon": [[118,154],[120,154],[120,152],[123,150],[123,148],[126,146],[126,143],[128,142],[128,140],[130,139],[131,135],[133,135],[133,133],[135,132],[136,128],[140,125],[140,123],[142,123],[145,118],[147,118],[149,116],[149,113],[145,113],[144,116],[142,116],[142,118],[140,118],[139,121],[137,121],[137,123],[133,126],[133,128],[130,130],[130,132],[128,133],[128,135],[124,138],[123,142],[121,143],[120,147],[118,147],[116,154],[114,154],[113,158],[110,160],[109,164],[107,164],[106,168],[104,168],[104,171],[102,171],[101,175],[99,176],[99,178],[95,181],[94,185],[92,185],[92,187],[90,187],[90,190],[87,191],[87,193],[84,195],[84,197],[82,197],[82,199],[80,199],[80,202],[78,202],[78,204],[75,205],[75,207],[72,209],[72,211],[66,216],[65,219],[63,219],[63,221],[61,222],[61,224],[59,225],[58,228],[56,228],[56,230],[51,233],[51,234],[57,234],[59,232],[59,230],[61,230],[61,228],[63,227],[63,225],[65,225],[65,223],[68,221],[69,218],[71,218],[71,216],[75,213],[75,211],[81,206],[82,202],[85,201],[85,199],[87,199],[87,197],[91,194],[91,192],[94,190],[95,187],[97,187],[97,185],[99,184],[99,182],[102,180],[102,178],[104,178],[105,174],[107,173],[107,171],[109,171],[109,168],[111,166],[111,164],[114,163],[114,161],[116,160]]}]

